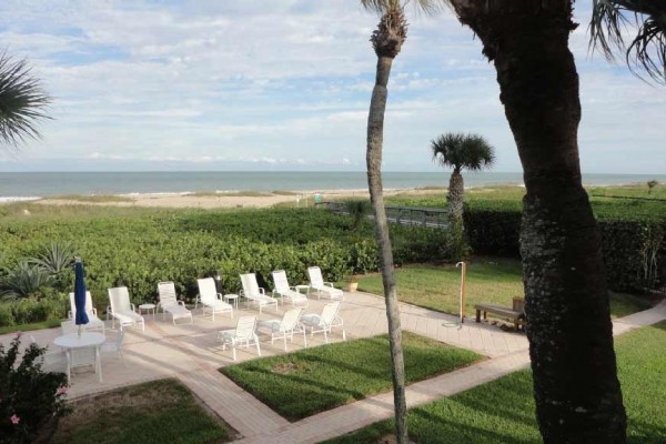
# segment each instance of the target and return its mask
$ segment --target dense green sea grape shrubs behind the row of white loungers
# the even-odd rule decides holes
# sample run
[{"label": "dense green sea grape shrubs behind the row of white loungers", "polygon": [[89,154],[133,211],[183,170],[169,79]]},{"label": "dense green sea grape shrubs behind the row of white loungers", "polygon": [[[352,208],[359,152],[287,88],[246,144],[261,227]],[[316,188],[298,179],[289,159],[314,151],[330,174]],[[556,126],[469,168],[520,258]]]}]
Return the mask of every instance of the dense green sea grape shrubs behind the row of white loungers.
[{"label": "dense green sea grape shrubs behind the row of white loungers", "polygon": [[[138,209],[101,216],[77,211],[0,219],[0,245],[6,264],[40,254],[54,241],[71,245],[85,263],[85,283],[101,311],[111,286],[127,285],[133,302],[140,303],[154,301],[157,283],[171,280],[179,294],[193,297],[196,279],[215,270],[222,271],[225,292],[238,291],[239,275],[245,272],[256,273],[270,290],[271,272],[279,269],[293,284],[307,281],[310,265],[319,265],[327,281],[379,270],[372,222],[362,221],[352,230],[349,218],[325,210]],[[447,259],[442,232],[396,225],[392,238],[397,264]],[[11,316],[0,306],[0,325],[3,319],[26,319],[17,315],[17,307],[10,312]]]}]

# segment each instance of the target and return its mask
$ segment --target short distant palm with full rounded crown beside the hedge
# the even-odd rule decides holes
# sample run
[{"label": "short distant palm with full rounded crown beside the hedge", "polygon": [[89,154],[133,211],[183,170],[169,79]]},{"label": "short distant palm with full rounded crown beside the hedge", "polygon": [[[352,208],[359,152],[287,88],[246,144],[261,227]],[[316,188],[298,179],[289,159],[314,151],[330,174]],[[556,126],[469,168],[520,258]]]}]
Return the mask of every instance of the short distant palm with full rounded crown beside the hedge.
[{"label": "short distant palm with full rounded crown beside the hedge", "polygon": [[448,212],[452,222],[462,226],[465,183],[461,171],[481,171],[493,167],[495,149],[482,135],[462,132],[440,135],[431,142],[431,149],[433,161],[453,168],[448,180]]}]

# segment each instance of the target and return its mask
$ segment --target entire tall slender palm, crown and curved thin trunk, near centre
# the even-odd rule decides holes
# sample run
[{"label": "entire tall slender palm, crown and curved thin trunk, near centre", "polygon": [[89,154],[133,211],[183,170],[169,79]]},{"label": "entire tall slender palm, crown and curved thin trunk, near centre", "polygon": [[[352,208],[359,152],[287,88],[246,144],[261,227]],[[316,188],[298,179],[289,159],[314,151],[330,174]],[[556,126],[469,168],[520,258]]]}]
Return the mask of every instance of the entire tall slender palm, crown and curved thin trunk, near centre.
[{"label": "entire tall slender palm, crown and curved thin trunk, near centre", "polygon": [[[406,2],[406,0],[405,0]],[[370,41],[377,56],[375,85],[372,90],[370,112],[367,115],[367,188],[374,212],[375,238],[380,248],[380,265],[386,300],[386,317],[389,319],[389,337],[391,343],[391,362],[393,379],[393,402],[395,408],[395,436],[398,444],[407,442],[407,404],[405,401],[405,371],[402,353],[402,332],[395,276],[393,273],[393,253],[389,238],[389,222],[384,209],[382,186],[382,144],[384,138],[384,112],[389,77],[393,59],[400,53],[407,38],[407,21],[404,14],[405,2],[401,0],[361,0],[366,9],[379,12],[382,18]],[[424,11],[433,11],[435,1],[415,0],[416,7]]]}]

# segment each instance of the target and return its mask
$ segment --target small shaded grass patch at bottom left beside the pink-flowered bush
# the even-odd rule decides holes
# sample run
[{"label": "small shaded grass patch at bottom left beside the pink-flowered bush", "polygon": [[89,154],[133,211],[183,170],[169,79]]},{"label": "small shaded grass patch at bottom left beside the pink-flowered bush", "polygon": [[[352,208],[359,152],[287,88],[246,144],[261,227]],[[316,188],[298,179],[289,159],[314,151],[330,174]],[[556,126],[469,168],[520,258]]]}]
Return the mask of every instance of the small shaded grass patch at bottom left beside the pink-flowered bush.
[{"label": "small shaded grass patch at bottom left beside the pink-flowered bush", "polygon": [[161,380],[71,404],[54,443],[220,443],[230,432],[176,380]]}]

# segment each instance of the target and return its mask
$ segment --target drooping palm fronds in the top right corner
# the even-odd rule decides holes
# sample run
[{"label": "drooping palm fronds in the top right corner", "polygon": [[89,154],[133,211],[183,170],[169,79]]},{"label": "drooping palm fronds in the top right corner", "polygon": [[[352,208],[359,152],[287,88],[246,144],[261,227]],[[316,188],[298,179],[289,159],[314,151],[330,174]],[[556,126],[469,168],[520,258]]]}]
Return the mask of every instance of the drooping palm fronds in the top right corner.
[{"label": "drooping palm fronds in the top right corner", "polygon": [[[626,47],[623,33],[633,26],[638,31]],[[614,61],[614,51],[624,51],[634,74],[640,78],[638,67],[656,82],[666,83],[666,2],[593,0],[588,32],[591,52],[599,48],[607,60]]]}]

